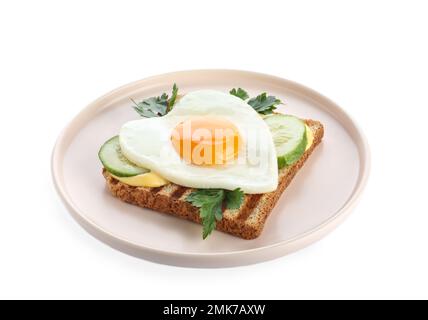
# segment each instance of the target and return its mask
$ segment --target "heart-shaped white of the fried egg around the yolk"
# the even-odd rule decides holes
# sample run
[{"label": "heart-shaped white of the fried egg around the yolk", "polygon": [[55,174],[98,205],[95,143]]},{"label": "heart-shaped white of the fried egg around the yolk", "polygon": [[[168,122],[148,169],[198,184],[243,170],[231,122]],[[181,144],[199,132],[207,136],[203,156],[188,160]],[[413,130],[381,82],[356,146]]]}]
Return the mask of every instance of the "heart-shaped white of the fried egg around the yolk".
[{"label": "heart-shaped white of the fried egg around the yolk", "polygon": [[[238,160],[224,166],[197,166],[182,160],[171,143],[171,133],[179,123],[201,116],[220,116],[232,122],[247,153],[240,150]],[[163,117],[125,123],[119,141],[130,161],[185,187],[241,188],[245,193],[266,193],[278,185],[275,146],[267,124],[245,101],[224,92],[190,92]],[[263,157],[255,165],[247,161],[249,154]]]}]

